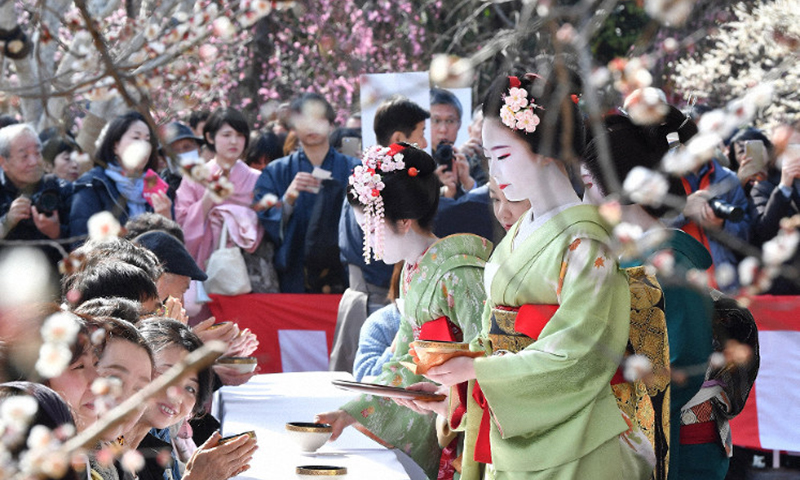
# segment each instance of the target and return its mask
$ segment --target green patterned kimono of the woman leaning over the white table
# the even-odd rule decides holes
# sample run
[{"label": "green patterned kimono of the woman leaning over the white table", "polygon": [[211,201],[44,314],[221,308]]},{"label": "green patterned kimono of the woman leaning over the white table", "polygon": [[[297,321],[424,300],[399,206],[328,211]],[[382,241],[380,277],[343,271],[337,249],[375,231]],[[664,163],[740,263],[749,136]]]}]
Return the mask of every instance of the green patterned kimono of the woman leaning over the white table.
[{"label": "green patterned kimono of the woman leaning over the white table", "polygon": [[[426,381],[399,363],[413,362],[409,343],[426,322],[444,316],[461,330],[463,341],[478,337],[486,298],[483,267],[491,251],[492,243],[484,238],[451,235],[431,245],[416,267],[406,265],[398,302],[403,321],[395,354],[375,383],[407,386]],[[342,410],[383,442],[406,452],[428,477],[436,478],[441,448],[435,415],[419,415],[391,399],[371,395],[361,395]]]}]

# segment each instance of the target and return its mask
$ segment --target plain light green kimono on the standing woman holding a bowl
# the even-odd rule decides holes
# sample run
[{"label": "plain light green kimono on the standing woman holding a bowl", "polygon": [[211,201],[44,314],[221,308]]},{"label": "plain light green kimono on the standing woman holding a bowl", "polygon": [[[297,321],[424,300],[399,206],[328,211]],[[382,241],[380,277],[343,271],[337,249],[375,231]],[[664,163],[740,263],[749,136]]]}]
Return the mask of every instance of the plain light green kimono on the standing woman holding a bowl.
[{"label": "plain light green kimono on the standing woman holding a bowl", "polygon": [[[475,360],[491,413],[487,477],[566,479],[589,468],[591,478],[624,478],[618,435],[628,427],[609,382],[628,341],[631,303],[627,277],[606,248],[608,230],[595,207],[573,206],[513,248],[520,224],[486,265],[483,332],[473,344],[490,355]],[[492,307],[524,304],[559,308],[529,346],[491,355]],[[465,479],[480,470],[472,449],[483,410],[473,386],[466,420],[454,426],[466,430]]]}]

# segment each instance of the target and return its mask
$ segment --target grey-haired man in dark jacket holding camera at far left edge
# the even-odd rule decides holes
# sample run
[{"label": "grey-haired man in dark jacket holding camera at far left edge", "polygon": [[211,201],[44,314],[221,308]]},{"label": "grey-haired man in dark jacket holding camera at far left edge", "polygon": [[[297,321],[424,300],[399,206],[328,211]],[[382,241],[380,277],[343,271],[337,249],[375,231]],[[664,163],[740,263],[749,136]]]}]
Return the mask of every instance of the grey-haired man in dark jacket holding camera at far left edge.
[{"label": "grey-haired man in dark jacket holding camera at far left edge", "polygon": [[[42,144],[33,127],[17,124],[0,129],[0,168],[0,239],[66,238],[72,187],[44,174]],[[61,259],[57,249],[43,250],[54,265]]]}]

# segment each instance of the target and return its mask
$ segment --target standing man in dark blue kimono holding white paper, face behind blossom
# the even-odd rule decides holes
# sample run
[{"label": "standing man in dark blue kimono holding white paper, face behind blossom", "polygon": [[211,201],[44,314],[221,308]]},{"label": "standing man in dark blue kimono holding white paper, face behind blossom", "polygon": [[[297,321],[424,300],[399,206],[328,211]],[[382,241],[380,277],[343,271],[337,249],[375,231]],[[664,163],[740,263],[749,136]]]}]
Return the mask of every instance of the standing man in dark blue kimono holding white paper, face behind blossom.
[{"label": "standing man in dark blue kimono holding white paper, face behind blossom", "polygon": [[[306,271],[311,271],[306,262],[305,244],[312,211],[317,207],[317,199],[322,198],[320,195],[325,194],[322,189],[338,186],[343,190],[356,160],[331,147],[328,137],[336,114],[322,95],[311,92],[303,94],[292,102],[290,112],[300,148],[267,165],[256,183],[254,197],[256,203],[268,194],[280,200],[279,205],[259,212],[259,218],[275,244],[275,269],[278,271],[281,292],[304,293],[313,291],[312,282],[316,283],[317,280],[311,278],[310,274],[306,275]],[[327,180],[325,185],[325,178],[330,178],[338,185],[332,185]],[[342,197],[339,196],[338,202],[331,200],[335,209],[341,208]],[[335,209],[325,216],[335,215],[338,220],[341,210]],[[334,230],[332,238],[325,238],[324,241],[337,246],[336,235]],[[338,263],[338,253],[336,257]]]}]

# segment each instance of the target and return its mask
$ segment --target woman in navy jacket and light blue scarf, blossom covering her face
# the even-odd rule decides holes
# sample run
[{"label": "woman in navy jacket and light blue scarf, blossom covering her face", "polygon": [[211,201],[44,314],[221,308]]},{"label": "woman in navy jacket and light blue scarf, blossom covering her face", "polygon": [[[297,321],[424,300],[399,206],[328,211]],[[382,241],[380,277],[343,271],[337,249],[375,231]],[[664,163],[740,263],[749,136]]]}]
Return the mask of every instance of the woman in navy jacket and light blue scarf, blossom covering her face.
[{"label": "woman in navy jacket and light blue scarf, blossom covering her face", "polygon": [[156,135],[139,112],[120,115],[101,132],[97,166],[74,184],[72,236],[86,234],[89,218],[102,211],[111,212],[121,224],[144,212],[172,218],[172,201],[166,193],[153,193],[149,199],[144,194],[145,173],[157,169],[156,150]]}]

